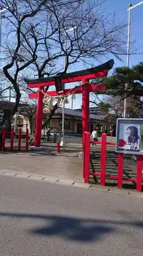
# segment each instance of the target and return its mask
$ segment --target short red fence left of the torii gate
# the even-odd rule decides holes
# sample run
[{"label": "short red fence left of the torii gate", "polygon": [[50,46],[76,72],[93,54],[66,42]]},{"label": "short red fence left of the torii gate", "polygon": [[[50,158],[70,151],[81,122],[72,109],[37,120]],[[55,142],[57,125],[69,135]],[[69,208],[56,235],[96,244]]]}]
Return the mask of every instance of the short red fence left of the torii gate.
[{"label": "short red fence left of the torii gate", "polygon": [[[6,141],[7,141],[6,136],[7,136],[7,134],[10,137],[10,139],[9,139],[10,143],[8,143],[9,144],[8,146],[6,146]],[[6,151],[6,150],[10,150],[10,151],[13,151],[13,150],[28,151],[28,138],[29,138],[28,129],[26,129],[26,134],[24,134],[24,137],[25,137],[24,142],[22,142],[23,134],[22,134],[22,131],[21,131],[20,128],[18,129],[18,133],[14,133],[14,129],[11,129],[11,132],[7,132],[6,128],[3,128],[3,131],[0,132],[0,136],[1,136],[0,150],[2,152]],[[14,145],[14,140],[16,140],[16,145]]]}]

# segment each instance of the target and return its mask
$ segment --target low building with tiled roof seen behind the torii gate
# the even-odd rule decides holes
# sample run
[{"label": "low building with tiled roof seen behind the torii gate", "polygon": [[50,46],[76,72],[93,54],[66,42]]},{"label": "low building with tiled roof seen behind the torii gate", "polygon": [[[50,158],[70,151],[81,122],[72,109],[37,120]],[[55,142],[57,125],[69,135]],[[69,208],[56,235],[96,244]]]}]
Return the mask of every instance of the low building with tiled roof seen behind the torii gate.
[{"label": "low building with tiled roof seen behind the torii gate", "polygon": [[[43,111],[43,123],[46,120],[47,112]],[[63,108],[58,108],[48,126],[52,127],[53,131],[62,132],[62,116]],[[101,134],[106,129],[106,123],[104,120],[105,116],[90,114],[90,132],[97,129],[98,133]],[[15,123],[15,116],[12,118],[12,124]],[[30,121],[27,116],[17,114],[16,125],[21,127],[22,131],[25,132],[26,128],[30,130]],[[82,112],[77,110],[71,110],[65,108],[65,133],[67,134],[82,134]]]}]

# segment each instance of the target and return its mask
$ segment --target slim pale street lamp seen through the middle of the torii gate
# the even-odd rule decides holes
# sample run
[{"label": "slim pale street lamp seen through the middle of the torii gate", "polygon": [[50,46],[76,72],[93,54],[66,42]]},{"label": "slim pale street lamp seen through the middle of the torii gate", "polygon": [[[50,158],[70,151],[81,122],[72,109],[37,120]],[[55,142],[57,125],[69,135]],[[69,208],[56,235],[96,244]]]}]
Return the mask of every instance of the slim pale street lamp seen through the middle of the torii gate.
[{"label": "slim pale street lamp seen through the middle of the torii gate", "polygon": [[[71,29],[66,30],[66,33],[69,31],[72,31],[76,29],[76,27],[73,27]],[[65,34],[65,51],[67,49],[67,35]],[[66,55],[65,55],[65,59],[64,59],[64,70],[66,68]],[[63,87],[65,89],[65,84],[63,84]],[[61,146],[65,145],[65,139],[64,139],[64,135],[65,135],[65,102],[63,102],[63,113],[62,113],[62,140],[61,140]]]}]

